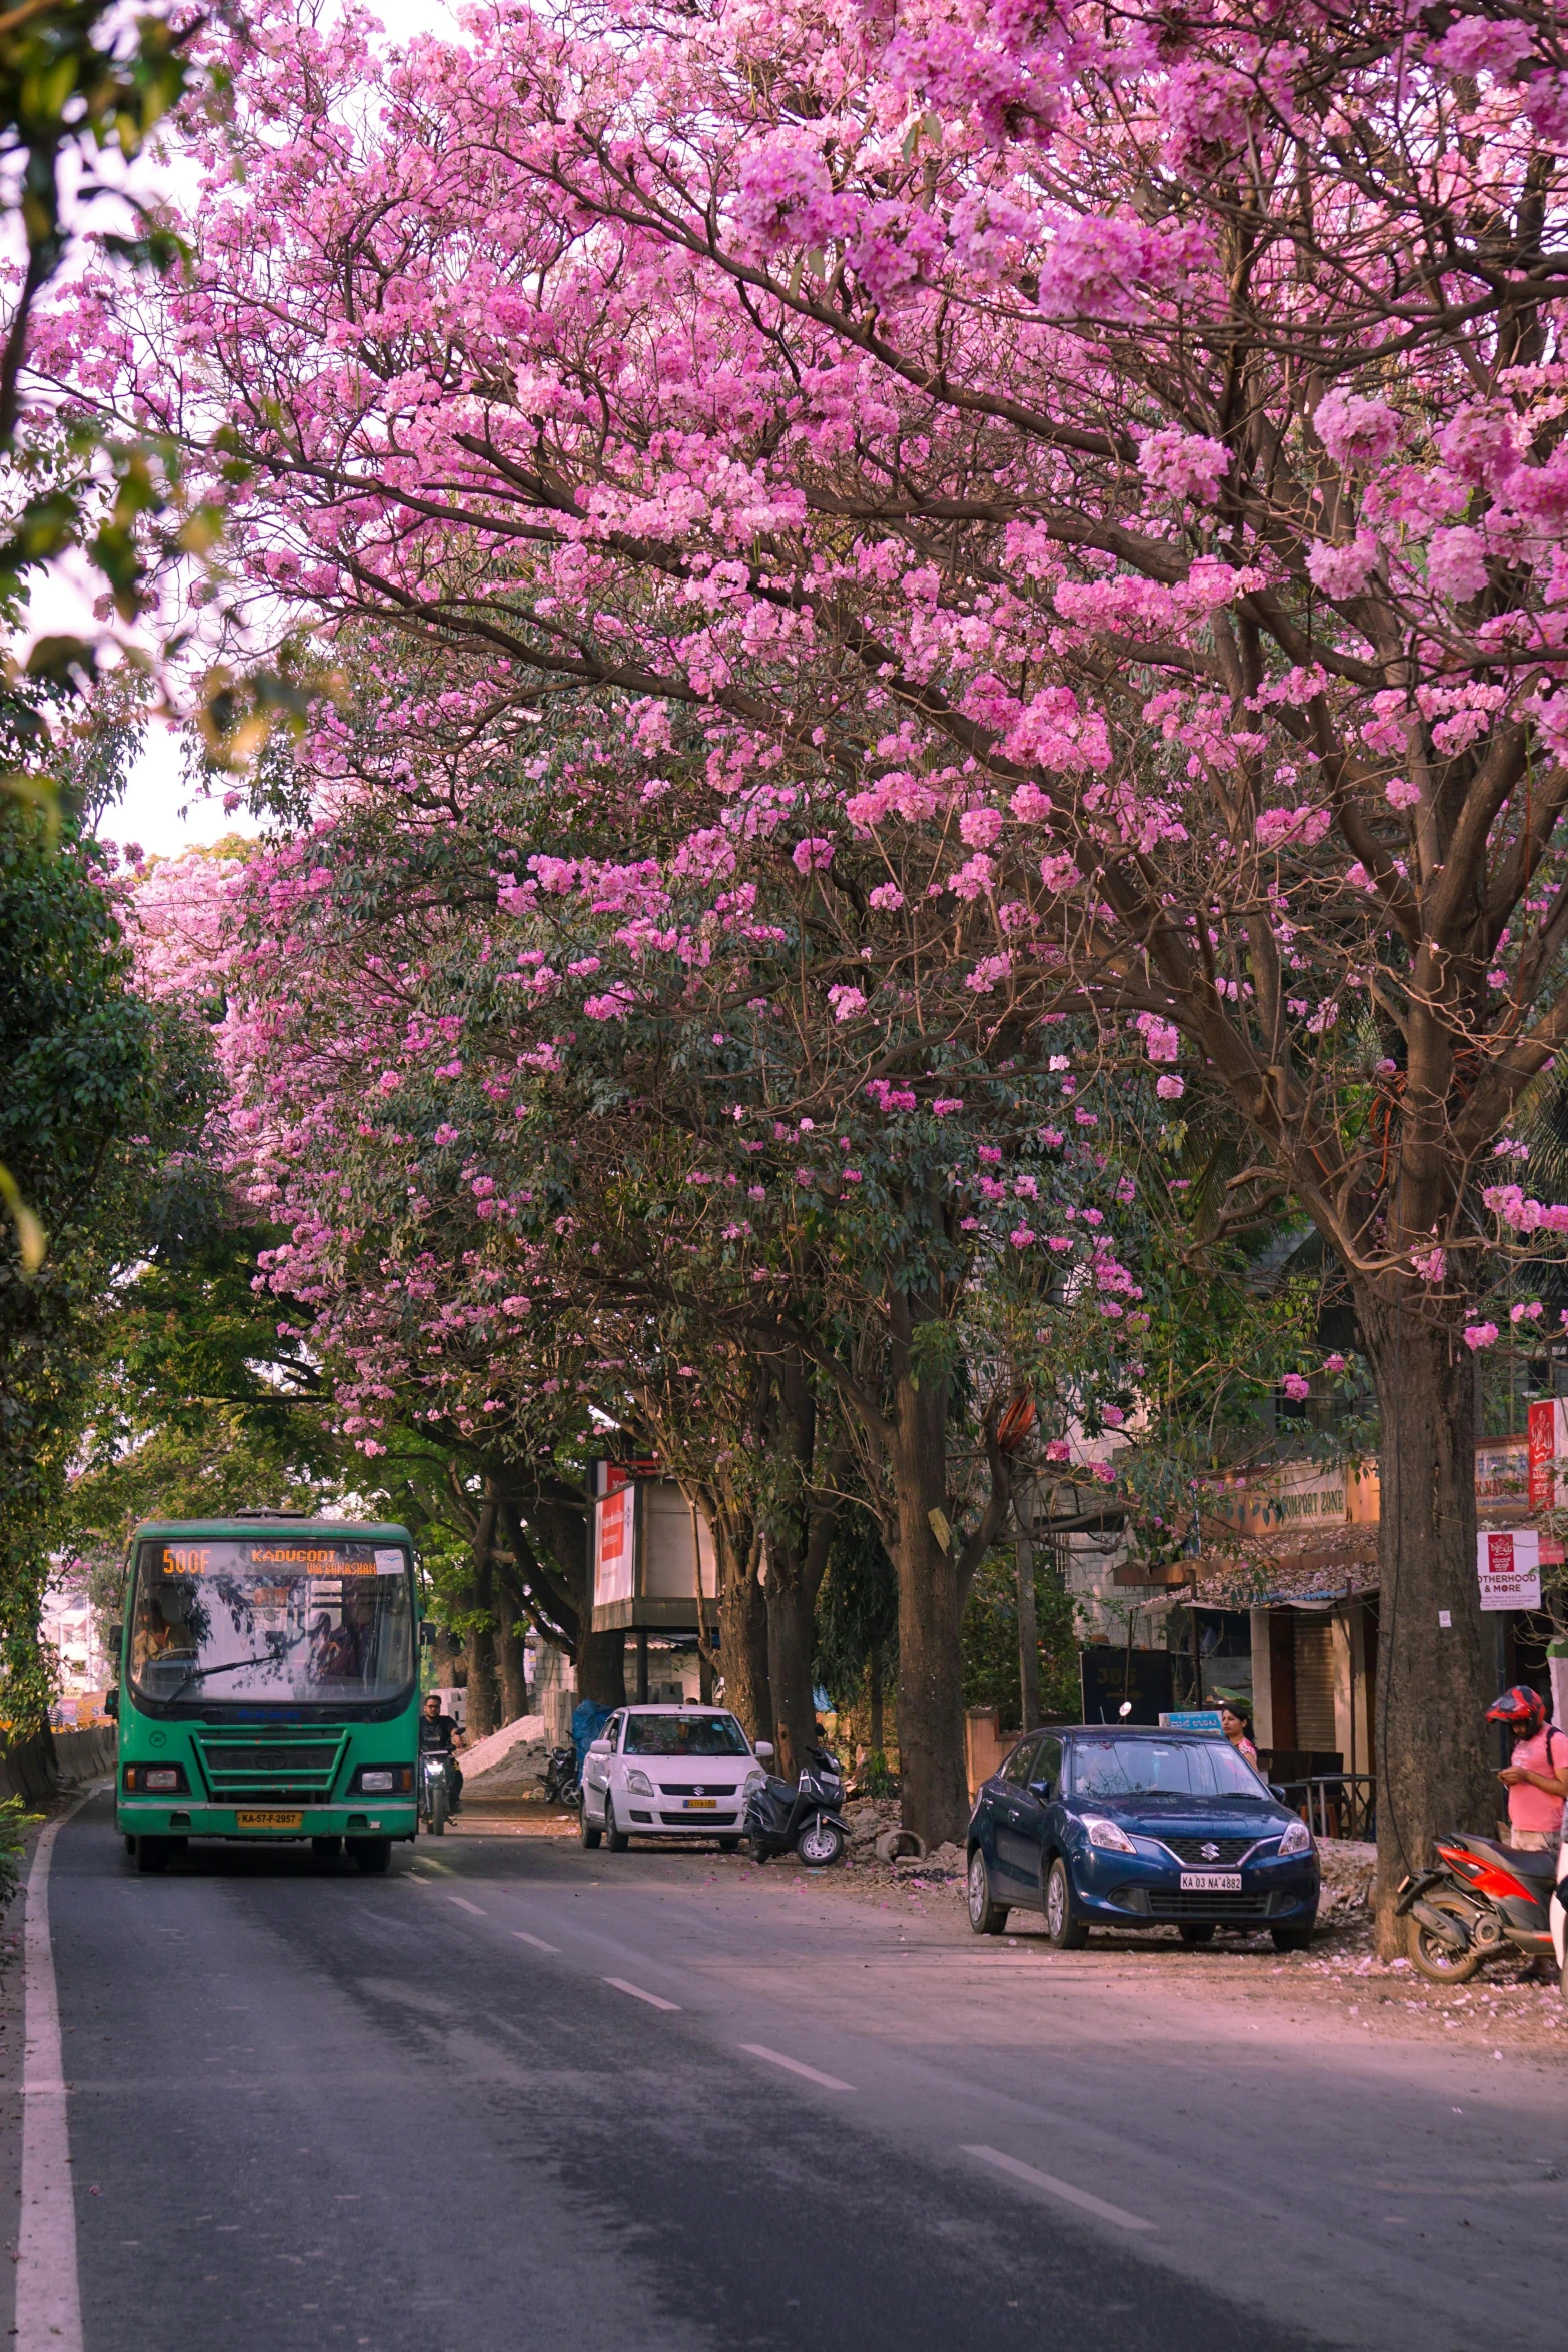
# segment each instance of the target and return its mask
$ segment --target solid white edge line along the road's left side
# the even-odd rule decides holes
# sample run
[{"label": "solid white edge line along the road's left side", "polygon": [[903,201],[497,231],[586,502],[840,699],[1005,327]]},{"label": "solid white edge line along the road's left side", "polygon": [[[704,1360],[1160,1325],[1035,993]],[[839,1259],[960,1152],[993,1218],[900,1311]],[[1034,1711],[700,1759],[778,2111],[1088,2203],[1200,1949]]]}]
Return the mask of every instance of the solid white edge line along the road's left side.
[{"label": "solid white edge line along the road's left side", "polygon": [[[87,1792],[92,1795],[92,1790]],[[78,1797],[71,1813],[87,1797]],[[61,1813],[38,1839],[28,1870],[21,1933],[26,2051],[21,2060],[21,2227],[16,2234],[16,2352],[82,2352],[82,2291],[75,2274],[71,2122],[59,2039],[59,1990],[49,1943],[49,1860],[71,1820]]]}]

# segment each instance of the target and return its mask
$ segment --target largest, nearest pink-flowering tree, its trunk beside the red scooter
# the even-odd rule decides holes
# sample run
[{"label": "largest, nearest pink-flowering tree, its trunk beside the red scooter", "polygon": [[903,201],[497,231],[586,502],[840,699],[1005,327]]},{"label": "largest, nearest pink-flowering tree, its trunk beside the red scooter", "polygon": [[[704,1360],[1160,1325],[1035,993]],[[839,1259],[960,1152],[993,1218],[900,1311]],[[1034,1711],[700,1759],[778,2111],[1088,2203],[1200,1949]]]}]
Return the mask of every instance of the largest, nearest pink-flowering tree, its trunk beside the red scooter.
[{"label": "largest, nearest pink-flowering tree, its trunk beside the red scooter", "polygon": [[616,687],[656,774],[682,715],[698,833],[917,844],[851,1018],[952,941],[1335,1251],[1387,1893],[1490,1806],[1474,1298],[1493,1221],[1561,1223],[1488,1167],[1568,1037],[1559,19],[710,0],[395,56],[280,9],[233,66],[247,176],[113,350],[254,468],[254,579],[482,649],[498,710]]}]

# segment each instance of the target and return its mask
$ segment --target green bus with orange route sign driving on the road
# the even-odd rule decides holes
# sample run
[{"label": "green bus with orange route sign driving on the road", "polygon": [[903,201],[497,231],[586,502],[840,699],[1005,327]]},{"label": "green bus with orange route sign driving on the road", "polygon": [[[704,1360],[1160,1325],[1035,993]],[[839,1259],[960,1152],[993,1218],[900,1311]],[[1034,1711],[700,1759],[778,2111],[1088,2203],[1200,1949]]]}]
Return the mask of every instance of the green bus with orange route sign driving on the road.
[{"label": "green bus with orange route sign driving on the road", "polygon": [[310,1839],[386,1870],[418,1823],[418,1597],[404,1526],[148,1519],[118,1630],[115,1828],[141,1870],[193,1837]]}]

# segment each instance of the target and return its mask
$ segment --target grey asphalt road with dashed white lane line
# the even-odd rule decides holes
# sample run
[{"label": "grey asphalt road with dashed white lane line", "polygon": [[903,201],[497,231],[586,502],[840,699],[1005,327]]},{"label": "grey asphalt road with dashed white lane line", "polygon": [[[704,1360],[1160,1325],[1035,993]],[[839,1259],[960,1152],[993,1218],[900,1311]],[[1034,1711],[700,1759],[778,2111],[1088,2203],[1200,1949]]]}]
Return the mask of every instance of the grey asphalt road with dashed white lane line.
[{"label": "grey asphalt road with dashed white lane line", "polygon": [[207,1851],[134,1875],[106,1797],[54,1844],[85,2352],[1556,2331],[1561,2065],[1260,2027],[729,1858]]}]

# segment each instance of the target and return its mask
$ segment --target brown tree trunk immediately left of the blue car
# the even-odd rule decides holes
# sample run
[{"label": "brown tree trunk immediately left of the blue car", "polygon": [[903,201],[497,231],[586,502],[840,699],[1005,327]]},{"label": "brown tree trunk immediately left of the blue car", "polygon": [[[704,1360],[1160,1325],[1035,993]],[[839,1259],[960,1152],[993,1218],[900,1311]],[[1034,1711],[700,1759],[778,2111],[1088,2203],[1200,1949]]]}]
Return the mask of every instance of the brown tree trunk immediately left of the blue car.
[{"label": "brown tree trunk immediately left of the blue car", "polygon": [[929,1846],[964,1839],[964,1689],[957,1543],[938,1541],[947,1510],[947,1385],[917,1388],[900,1367],[886,1446],[898,1515],[898,1788],[903,1825]]}]

